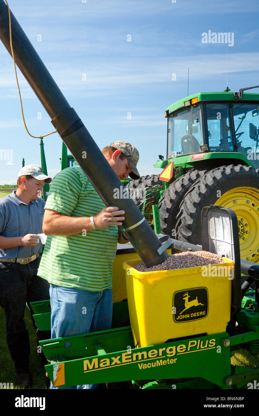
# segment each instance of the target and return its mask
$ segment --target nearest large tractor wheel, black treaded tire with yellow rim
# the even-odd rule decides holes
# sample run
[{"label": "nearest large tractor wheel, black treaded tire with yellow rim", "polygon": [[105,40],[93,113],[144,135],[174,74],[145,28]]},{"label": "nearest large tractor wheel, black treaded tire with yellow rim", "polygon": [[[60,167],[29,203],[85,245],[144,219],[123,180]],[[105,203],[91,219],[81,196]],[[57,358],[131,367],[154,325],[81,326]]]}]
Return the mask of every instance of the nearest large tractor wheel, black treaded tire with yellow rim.
[{"label": "nearest large tractor wheel, black treaded tire with yellow rim", "polygon": [[241,258],[259,261],[259,169],[229,165],[205,173],[186,193],[177,216],[177,238],[202,244],[201,211],[219,205],[237,214]]}]

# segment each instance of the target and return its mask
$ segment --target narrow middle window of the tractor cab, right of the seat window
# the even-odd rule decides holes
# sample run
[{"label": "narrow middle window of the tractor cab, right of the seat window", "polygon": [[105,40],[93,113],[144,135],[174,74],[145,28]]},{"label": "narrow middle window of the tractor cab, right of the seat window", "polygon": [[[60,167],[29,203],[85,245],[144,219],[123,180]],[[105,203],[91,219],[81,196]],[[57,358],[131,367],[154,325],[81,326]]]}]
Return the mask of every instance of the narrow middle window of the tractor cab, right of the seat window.
[{"label": "narrow middle window of the tractor cab, right of the seat window", "polygon": [[205,104],[209,151],[234,151],[228,104]]}]

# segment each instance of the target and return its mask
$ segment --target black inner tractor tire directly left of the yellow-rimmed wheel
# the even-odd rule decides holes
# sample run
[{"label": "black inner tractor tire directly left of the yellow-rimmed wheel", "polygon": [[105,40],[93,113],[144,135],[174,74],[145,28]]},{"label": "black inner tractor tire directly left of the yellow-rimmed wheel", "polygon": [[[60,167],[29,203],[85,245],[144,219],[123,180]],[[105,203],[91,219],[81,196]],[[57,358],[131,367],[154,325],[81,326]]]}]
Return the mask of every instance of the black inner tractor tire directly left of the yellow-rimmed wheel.
[{"label": "black inner tractor tire directly left of the yellow-rimmed wheel", "polygon": [[203,176],[207,170],[187,172],[176,179],[163,193],[159,201],[160,227],[163,234],[175,238],[176,215],[188,189]]}]

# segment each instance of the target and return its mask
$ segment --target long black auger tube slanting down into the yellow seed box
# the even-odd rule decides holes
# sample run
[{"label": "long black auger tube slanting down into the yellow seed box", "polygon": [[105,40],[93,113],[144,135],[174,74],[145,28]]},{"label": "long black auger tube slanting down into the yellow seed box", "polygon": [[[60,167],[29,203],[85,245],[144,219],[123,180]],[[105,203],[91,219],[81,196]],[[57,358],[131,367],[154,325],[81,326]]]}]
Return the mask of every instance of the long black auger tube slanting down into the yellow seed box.
[{"label": "long black auger tube slanting down into the yellow seed box", "polygon": [[[122,228],[146,266],[162,263],[168,253],[158,254],[161,243],[136,204],[131,199],[113,198],[116,189],[123,190],[121,181],[79,116],[69,106],[12,12],[11,25],[15,62],[52,119],[55,129],[105,204],[125,211]],[[3,0],[0,0],[0,39],[11,54],[8,11]],[[84,152],[86,158],[83,158]]]}]

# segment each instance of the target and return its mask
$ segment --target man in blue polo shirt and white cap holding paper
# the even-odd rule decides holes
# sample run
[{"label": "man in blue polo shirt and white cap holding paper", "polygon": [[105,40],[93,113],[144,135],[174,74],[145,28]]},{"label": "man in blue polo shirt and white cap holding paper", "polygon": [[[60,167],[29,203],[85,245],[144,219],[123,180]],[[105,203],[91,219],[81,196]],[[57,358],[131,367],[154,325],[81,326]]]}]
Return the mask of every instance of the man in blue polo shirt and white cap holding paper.
[{"label": "man in blue polo shirt and white cap holding paper", "polygon": [[[37,270],[42,251],[38,234],[42,233],[45,205],[40,196],[44,183],[50,182],[39,166],[24,166],[18,174],[17,190],[0,199],[0,306],[5,310],[6,339],[15,362],[16,381],[25,388],[32,384],[25,305],[49,298],[49,285],[37,276]],[[39,339],[50,338],[46,332],[37,331],[37,335]]]}]

